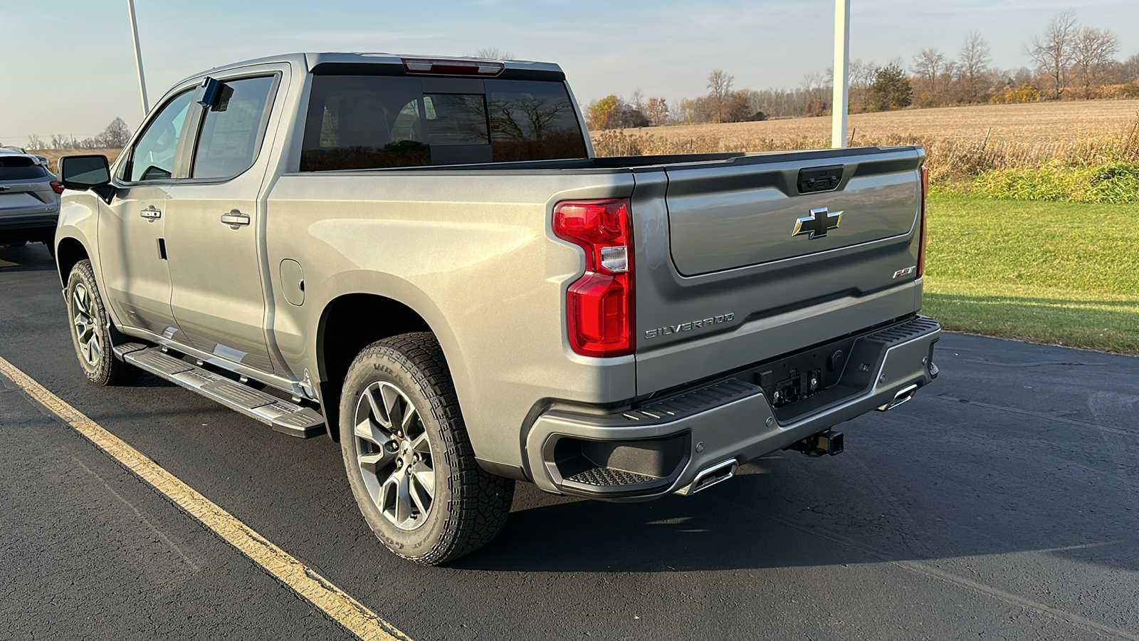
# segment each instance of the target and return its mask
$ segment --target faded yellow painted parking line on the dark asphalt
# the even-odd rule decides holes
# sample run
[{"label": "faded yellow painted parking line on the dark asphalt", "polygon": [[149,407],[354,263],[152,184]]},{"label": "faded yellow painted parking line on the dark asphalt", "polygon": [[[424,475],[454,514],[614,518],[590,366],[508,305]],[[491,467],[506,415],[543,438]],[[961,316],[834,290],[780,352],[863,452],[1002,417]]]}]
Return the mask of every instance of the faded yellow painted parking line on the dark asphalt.
[{"label": "faded yellow painted parking line on the dark asphalt", "polygon": [[393,625],[349,597],[325,577],[296,560],[288,552],[273,545],[253,528],[222,510],[178,477],[167,472],[141,452],[126,445],[122,439],[99,427],[79,409],[66,404],[43,386],[21,372],[11,363],[0,358],[0,374],[3,374],[28,396],[38,400],[55,415],[63,419],[79,433],[87,437],[100,449],[113,456],[126,469],[180,505],[194,518],[202,521],[227,543],[276,576],[313,606],[323,610],[336,623],[367,641],[411,641]]}]

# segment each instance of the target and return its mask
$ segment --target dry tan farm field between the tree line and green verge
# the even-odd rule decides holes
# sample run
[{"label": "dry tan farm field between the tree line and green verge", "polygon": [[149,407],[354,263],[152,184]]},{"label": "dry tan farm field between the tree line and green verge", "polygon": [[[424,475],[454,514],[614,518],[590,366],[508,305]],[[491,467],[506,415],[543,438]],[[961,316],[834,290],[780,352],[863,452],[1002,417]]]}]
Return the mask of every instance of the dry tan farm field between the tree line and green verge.
[{"label": "dry tan farm field between the tree line and green verge", "polygon": [[[935,184],[990,170],[1139,161],[1139,100],[981,105],[854,114],[854,146],[920,144]],[[598,155],[761,152],[830,146],[830,117],[591,132]],[[1130,157],[1136,155],[1137,157]]]}]

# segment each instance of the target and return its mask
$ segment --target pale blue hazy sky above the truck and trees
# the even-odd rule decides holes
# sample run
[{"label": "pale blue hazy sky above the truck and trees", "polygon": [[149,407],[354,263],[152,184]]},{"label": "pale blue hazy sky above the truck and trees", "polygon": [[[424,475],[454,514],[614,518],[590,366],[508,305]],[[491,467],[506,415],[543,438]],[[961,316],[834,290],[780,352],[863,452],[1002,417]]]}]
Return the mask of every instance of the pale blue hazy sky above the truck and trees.
[{"label": "pale blue hazy sky above the truck and trees", "polygon": [[[1058,11],[1139,54],[1139,0],[852,0],[851,57],[908,64],[924,47],[956,55],[977,31],[993,65],[1027,66],[1024,44]],[[498,47],[566,71],[582,103],[608,94],[671,102],[736,88],[797,87],[830,66],[831,0],[136,0],[151,103],[178,80],[292,51],[458,55]],[[142,116],[126,0],[0,0],[0,143],[93,136]]]}]

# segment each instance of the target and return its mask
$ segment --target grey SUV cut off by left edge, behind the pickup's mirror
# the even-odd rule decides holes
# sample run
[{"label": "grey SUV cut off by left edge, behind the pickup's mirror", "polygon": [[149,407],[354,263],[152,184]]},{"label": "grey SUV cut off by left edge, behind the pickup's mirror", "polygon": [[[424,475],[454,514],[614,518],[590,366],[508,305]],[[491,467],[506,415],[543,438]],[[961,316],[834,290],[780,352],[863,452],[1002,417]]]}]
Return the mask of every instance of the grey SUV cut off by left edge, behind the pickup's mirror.
[{"label": "grey SUV cut off by left edge, behind the pickup's mirror", "polygon": [[52,242],[63,186],[35,156],[0,154],[0,246]]}]

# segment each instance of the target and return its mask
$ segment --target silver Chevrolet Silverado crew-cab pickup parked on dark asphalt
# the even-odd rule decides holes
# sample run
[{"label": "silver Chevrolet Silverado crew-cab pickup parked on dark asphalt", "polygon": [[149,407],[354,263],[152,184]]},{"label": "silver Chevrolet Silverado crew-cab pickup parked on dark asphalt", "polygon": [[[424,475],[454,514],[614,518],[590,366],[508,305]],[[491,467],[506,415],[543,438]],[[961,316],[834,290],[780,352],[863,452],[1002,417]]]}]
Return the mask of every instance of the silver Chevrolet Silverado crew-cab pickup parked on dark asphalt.
[{"label": "silver Chevrolet Silverado crew-cab pickup parked on dark asphalt", "polygon": [[339,443],[440,563],[516,480],[694,494],[933,381],[919,147],[595,157],[552,64],[298,54],[175,84],[59,163],[88,378]]}]

